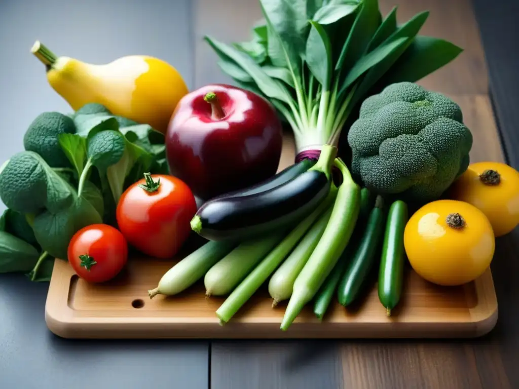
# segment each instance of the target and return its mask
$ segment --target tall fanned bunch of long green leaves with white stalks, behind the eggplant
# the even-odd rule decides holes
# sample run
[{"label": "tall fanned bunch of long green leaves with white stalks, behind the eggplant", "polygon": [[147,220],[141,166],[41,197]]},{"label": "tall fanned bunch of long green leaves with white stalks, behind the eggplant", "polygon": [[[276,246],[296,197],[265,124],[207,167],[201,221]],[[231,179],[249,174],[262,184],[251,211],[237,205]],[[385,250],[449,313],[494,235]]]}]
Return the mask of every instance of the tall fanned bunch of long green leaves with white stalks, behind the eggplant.
[{"label": "tall fanned bunch of long green leaves with white stalks, behind the eggplant", "polygon": [[296,149],[337,145],[354,107],[373,90],[415,82],[461,49],[417,35],[429,13],[397,24],[377,0],[260,0],[264,20],[253,39],[205,39],[218,65],[242,88],[267,98],[294,132]]}]

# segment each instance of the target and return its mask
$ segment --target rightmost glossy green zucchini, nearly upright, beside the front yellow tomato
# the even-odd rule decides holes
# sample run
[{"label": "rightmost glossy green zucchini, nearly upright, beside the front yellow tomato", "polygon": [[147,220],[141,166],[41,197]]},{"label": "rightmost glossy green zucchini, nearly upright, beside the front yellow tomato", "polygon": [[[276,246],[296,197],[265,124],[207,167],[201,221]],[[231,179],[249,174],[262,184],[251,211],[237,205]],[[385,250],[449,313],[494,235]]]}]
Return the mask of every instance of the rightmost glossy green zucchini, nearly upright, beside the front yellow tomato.
[{"label": "rightmost glossy green zucchini, nearly upright, beside the front yellow tomato", "polygon": [[378,273],[378,299],[387,315],[397,306],[404,277],[404,229],[407,223],[407,204],[397,200],[391,204]]}]

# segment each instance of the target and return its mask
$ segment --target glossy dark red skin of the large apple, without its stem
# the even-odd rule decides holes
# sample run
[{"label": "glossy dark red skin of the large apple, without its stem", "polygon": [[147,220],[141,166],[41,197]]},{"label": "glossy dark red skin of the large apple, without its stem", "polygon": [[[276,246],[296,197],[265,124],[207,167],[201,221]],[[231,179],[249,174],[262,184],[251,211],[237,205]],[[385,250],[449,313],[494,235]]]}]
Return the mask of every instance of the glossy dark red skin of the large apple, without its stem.
[{"label": "glossy dark red skin of the large apple, without its stem", "polygon": [[[204,96],[214,92],[225,116],[212,117]],[[208,85],[184,96],[166,133],[171,173],[203,200],[262,182],[278,169],[282,127],[261,96]]]}]

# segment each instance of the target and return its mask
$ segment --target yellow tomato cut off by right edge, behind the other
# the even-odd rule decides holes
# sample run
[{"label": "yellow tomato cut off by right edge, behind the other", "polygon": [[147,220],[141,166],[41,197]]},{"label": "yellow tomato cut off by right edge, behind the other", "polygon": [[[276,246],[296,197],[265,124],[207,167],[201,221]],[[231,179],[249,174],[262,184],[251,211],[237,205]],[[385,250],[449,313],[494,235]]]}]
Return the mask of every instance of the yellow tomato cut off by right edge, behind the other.
[{"label": "yellow tomato cut off by right edge, behind the other", "polygon": [[472,163],[452,185],[449,197],[483,211],[496,237],[519,224],[519,172],[504,163]]}]

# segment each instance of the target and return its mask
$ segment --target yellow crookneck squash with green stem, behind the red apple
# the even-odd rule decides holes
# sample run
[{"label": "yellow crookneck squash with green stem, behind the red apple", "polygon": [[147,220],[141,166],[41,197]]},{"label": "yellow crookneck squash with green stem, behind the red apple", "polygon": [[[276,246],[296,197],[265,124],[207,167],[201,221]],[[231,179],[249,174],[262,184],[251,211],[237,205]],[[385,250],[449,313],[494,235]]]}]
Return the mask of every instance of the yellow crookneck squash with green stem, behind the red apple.
[{"label": "yellow crookneck squash with green stem, behind the red apple", "polygon": [[74,110],[99,103],[112,114],[166,133],[180,99],[188,93],[176,69],[157,58],[129,55],[95,65],[57,57],[36,41],[32,53],[47,66],[47,80]]}]

